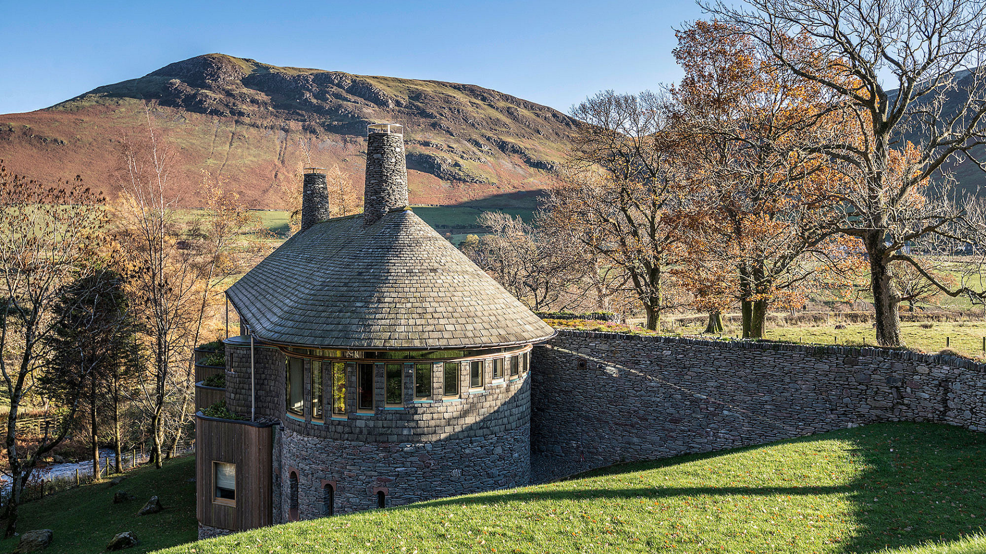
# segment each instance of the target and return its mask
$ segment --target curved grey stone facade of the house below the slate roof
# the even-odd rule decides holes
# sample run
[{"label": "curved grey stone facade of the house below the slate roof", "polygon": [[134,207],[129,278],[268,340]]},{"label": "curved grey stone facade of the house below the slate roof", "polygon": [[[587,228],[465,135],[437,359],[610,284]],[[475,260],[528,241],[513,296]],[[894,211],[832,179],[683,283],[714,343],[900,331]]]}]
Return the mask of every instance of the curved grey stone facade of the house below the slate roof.
[{"label": "curved grey stone facade of the house below the slate roof", "polygon": [[[273,520],[313,519],[328,514],[325,485],[332,488],[332,513],[378,507],[383,492],[386,506],[527,484],[530,478],[529,348],[491,351],[479,362],[480,387],[470,386],[469,362],[459,365],[458,394],[446,396],[444,362],[400,362],[403,402],[388,405],[384,369],[393,361],[346,362],[344,416],[313,420],[312,372],[318,362],[304,359],[304,414],[287,411],[286,361],[293,352],[256,343],[252,355],[248,337],[226,342],[227,406],[248,417],[280,422],[273,452]],[[510,360],[518,358],[518,373],[510,375]],[[502,379],[494,378],[494,360],[503,360]],[[357,363],[375,371],[375,409],[354,409]],[[414,367],[432,364],[434,394],[414,396]],[[321,362],[321,364],[325,364]],[[328,369],[324,370],[327,372]],[[326,410],[327,411],[327,410]],[[297,480],[292,478],[292,473]],[[294,485],[294,483],[297,485]],[[293,491],[297,490],[297,493]],[[292,496],[297,495],[297,511]]]}]

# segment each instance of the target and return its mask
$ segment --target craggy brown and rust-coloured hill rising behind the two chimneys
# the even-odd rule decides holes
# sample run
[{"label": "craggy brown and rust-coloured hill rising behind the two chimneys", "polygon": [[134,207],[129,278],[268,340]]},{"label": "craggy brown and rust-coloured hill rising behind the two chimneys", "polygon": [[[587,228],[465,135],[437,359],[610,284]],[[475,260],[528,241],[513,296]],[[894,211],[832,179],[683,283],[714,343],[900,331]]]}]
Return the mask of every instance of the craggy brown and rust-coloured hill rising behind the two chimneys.
[{"label": "craggy brown and rust-coloured hill rising behind the two chimneys", "polygon": [[[251,207],[293,194],[311,151],[362,191],[366,125],[404,125],[412,203],[529,205],[550,182],[574,120],[474,85],[277,67],[207,54],[61,104],[0,115],[0,159],[35,178],[81,174],[117,188],[122,136],[141,132],[144,104],[176,145],[173,192],[196,205],[200,170],[221,175]],[[304,145],[304,146],[303,146]]]}]

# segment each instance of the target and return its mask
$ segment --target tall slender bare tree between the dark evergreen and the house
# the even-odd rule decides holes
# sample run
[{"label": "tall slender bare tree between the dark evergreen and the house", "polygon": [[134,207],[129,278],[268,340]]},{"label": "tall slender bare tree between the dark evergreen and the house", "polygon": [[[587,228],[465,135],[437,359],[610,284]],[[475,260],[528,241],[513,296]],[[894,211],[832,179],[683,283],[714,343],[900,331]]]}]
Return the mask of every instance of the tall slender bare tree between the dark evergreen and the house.
[{"label": "tall slender bare tree between the dark evergreen and the house", "polygon": [[202,313],[202,282],[177,199],[167,192],[172,154],[150,110],[146,117],[144,136],[122,141],[122,191],[114,212],[128,293],[151,358],[149,375],[139,381],[139,403],[160,468],[169,410],[180,410],[190,394],[188,360]]}]

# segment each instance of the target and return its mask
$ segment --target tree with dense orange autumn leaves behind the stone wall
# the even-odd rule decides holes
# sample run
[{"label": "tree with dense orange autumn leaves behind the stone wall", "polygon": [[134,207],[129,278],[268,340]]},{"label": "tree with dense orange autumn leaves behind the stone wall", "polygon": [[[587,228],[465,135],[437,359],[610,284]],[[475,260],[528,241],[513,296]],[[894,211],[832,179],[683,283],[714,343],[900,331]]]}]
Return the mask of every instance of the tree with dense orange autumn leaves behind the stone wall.
[{"label": "tree with dense orange autumn leaves behind the stone wall", "polygon": [[[797,299],[838,245],[830,237],[842,214],[829,199],[840,175],[811,150],[813,138],[839,131],[835,109],[820,87],[731,26],[698,21],[677,37],[685,75],[670,88],[671,117],[695,160],[689,264],[704,260],[710,277],[736,283],[742,336],[760,338],[768,307]],[[718,297],[707,294],[708,278],[690,281],[701,303]]]}]

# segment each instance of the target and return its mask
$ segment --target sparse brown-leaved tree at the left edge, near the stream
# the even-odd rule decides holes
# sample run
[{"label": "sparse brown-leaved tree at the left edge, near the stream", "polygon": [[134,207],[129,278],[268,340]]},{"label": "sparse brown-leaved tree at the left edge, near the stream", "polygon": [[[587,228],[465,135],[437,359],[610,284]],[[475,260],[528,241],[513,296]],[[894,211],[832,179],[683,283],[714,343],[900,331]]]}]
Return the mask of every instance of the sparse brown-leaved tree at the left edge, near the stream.
[{"label": "sparse brown-leaved tree at the left edge, near the stream", "polygon": [[36,380],[50,370],[62,287],[93,271],[106,214],[103,198],[74,181],[54,186],[9,173],[0,163],[0,377],[10,403],[4,447],[11,486],[5,536],[17,531],[18,507],[37,461],[65,438],[79,390],[65,390],[56,429],[35,446],[20,432]]}]

